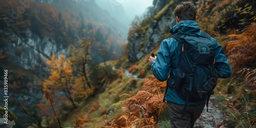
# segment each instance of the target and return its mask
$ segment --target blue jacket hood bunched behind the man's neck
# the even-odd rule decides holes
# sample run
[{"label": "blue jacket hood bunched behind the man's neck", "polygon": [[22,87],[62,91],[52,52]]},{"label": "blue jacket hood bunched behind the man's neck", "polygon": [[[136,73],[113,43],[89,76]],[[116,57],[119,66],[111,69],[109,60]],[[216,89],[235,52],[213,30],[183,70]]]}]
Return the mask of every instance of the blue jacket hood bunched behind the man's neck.
[{"label": "blue jacket hood bunched behind the man's neck", "polygon": [[169,33],[172,33],[173,35],[176,33],[190,34],[199,30],[200,27],[198,27],[197,22],[194,20],[181,20],[172,29],[170,29]]}]

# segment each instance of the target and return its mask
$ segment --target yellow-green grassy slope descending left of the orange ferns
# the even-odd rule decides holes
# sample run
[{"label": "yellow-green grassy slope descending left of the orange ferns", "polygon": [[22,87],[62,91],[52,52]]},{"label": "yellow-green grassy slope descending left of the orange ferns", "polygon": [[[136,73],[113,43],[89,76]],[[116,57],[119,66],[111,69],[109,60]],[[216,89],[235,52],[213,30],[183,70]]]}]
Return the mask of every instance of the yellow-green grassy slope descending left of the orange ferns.
[{"label": "yellow-green grassy slope descending left of the orange ferns", "polygon": [[[159,46],[156,47],[152,52],[154,52],[156,55],[158,49]],[[143,69],[146,71],[144,78],[147,78],[148,75],[152,75],[150,66],[147,63],[149,56],[150,54],[148,54],[148,56],[144,56],[140,61],[136,63],[130,63],[127,57],[122,57],[120,60],[116,61],[108,61],[107,63],[111,63],[114,66],[120,65],[120,68],[125,69],[131,67],[132,65],[143,67]],[[72,124],[72,121],[75,121],[76,117],[79,116],[80,113],[83,115],[88,114],[88,118],[91,118],[90,122],[84,123],[84,125],[88,127],[97,127],[99,124],[104,124],[103,120],[106,118],[110,120],[112,117],[110,115],[106,116],[105,114],[101,115],[101,111],[108,109],[113,103],[125,100],[127,96],[123,96],[123,94],[131,94],[131,92],[136,94],[141,88],[142,79],[138,79],[136,83],[131,83],[130,80],[132,79],[133,78],[129,78],[125,75],[125,73],[123,73],[121,78],[117,78],[111,83],[108,83],[103,93],[98,93],[94,97],[91,97],[86,101],[82,101],[79,104],[79,108],[69,114],[69,117],[66,119],[66,121],[64,121],[63,126],[68,127],[74,125],[74,123]],[[99,103],[100,106],[97,111],[90,113],[94,103]],[[118,111],[116,111],[115,114],[118,114]]]}]

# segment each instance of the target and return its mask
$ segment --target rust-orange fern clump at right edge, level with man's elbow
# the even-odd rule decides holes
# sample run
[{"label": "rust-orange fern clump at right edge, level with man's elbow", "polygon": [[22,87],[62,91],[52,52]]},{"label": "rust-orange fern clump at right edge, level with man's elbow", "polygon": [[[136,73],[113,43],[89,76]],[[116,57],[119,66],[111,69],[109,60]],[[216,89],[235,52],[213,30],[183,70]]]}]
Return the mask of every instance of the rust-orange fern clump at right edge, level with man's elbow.
[{"label": "rust-orange fern clump at right edge, level with man's elbow", "polygon": [[256,66],[256,24],[244,28],[241,34],[231,34],[226,46],[226,55],[233,71],[242,67]]}]

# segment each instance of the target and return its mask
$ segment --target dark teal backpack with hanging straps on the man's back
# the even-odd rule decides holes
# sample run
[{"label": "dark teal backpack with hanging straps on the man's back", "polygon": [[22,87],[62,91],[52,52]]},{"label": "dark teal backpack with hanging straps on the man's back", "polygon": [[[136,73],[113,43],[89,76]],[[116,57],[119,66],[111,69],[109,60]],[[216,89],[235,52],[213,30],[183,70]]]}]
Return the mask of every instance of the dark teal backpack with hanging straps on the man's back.
[{"label": "dark teal backpack with hanging straps on the man's back", "polygon": [[217,44],[211,41],[205,32],[201,35],[177,33],[171,37],[179,40],[178,48],[181,52],[176,75],[170,74],[167,86],[174,84],[173,88],[177,94],[186,101],[181,117],[184,117],[188,101],[198,102],[207,99],[208,112],[209,97],[214,94],[218,79],[217,71],[214,70]]}]

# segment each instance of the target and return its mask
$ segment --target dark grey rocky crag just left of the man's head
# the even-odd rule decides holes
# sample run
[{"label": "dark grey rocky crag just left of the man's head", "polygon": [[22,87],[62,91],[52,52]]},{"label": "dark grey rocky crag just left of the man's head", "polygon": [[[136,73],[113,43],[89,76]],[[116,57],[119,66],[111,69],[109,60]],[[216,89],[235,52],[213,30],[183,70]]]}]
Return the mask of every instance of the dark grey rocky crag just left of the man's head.
[{"label": "dark grey rocky crag just left of the man's head", "polygon": [[[156,15],[163,7],[168,3],[167,0],[155,0],[153,2],[153,15]],[[164,34],[169,31],[176,24],[176,20],[173,18],[172,11],[173,6],[167,10],[169,11],[167,14],[163,14],[160,19],[154,19],[150,25],[150,29],[144,35],[139,35],[135,33],[129,43],[131,45],[128,58],[130,61],[137,61],[141,59],[141,57],[150,53],[153,49],[156,48],[158,44],[164,39]],[[140,51],[140,42],[145,40],[145,45],[143,46],[144,51]]]}]

